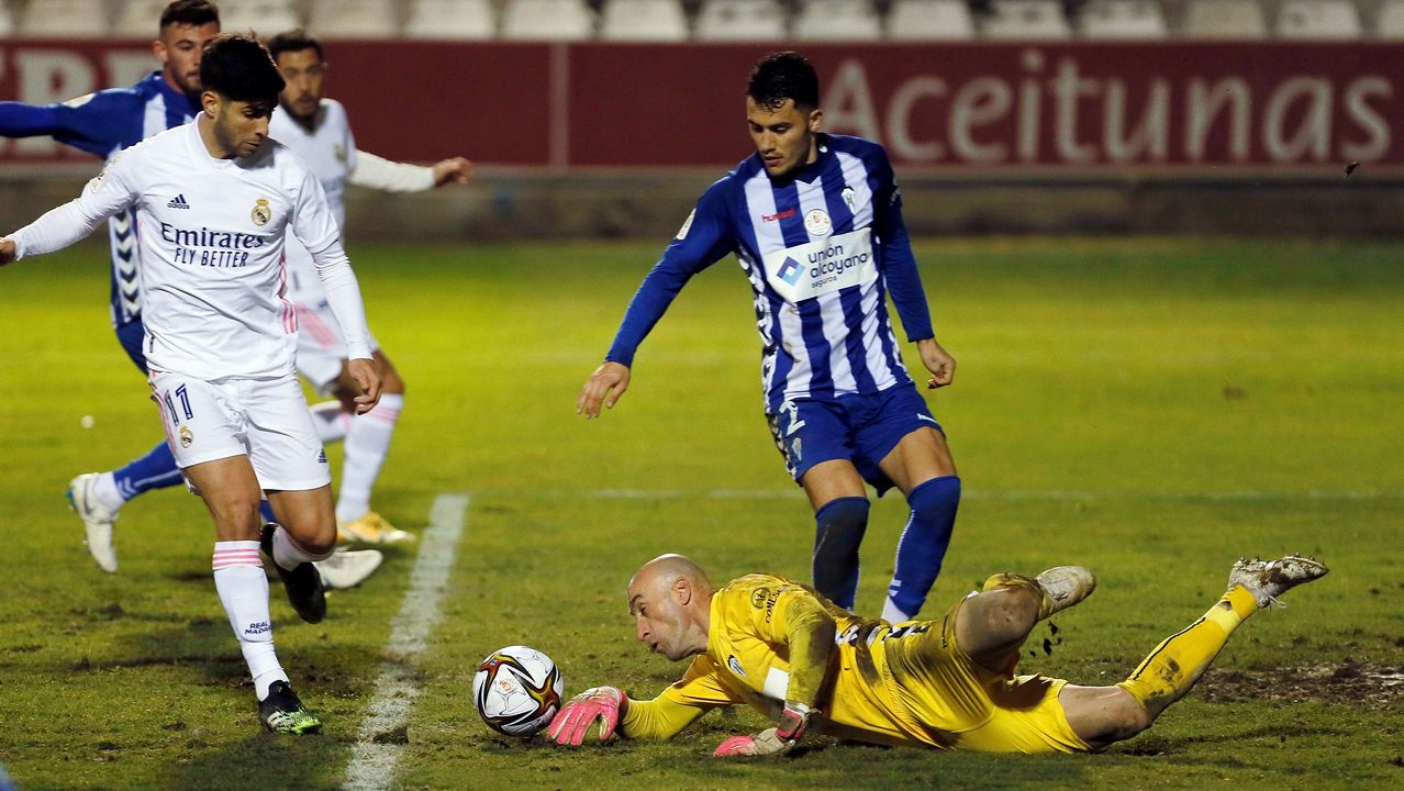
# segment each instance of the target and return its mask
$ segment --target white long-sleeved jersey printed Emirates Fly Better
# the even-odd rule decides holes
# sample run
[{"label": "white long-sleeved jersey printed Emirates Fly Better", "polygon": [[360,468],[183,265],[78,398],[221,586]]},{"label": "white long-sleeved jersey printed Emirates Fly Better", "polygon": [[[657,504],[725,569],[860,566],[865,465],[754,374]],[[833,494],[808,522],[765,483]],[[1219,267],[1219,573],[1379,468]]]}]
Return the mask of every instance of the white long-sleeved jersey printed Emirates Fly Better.
[{"label": "white long-sleeved jersey printed Emirates Fly Better", "polygon": [[[102,218],[138,211],[145,351],[152,371],[201,379],[293,372],[296,313],[285,296],[284,240],[305,242],[327,280],[351,357],[369,358],[355,275],[326,194],[291,150],[265,140],[215,159],[198,122],[115,157],[77,200],[15,232],[20,254],[81,239]],[[84,226],[86,228],[81,228]]]}]

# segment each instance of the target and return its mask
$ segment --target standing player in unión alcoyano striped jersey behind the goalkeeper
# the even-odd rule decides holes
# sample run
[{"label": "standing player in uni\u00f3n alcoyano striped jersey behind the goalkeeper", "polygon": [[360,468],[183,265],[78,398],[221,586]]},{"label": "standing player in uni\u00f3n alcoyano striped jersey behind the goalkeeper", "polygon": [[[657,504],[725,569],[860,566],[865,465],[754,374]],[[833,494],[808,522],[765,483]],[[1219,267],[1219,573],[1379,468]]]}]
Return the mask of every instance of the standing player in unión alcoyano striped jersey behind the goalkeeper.
[{"label": "standing player in uni\u00f3n alcoyano striped jersey behind the goalkeeper", "polygon": [[886,299],[931,372],[936,343],[883,149],[820,132],[819,77],[795,52],[764,58],[746,100],[755,153],[712,184],[629,303],[576,409],[614,407],[635,351],[688,278],[734,253],[755,295],[765,417],[814,509],[814,586],[845,608],[858,589],[866,481],[896,486],[911,513],[882,615],[914,617],[941,572],[960,479],[941,426],[901,361]]}]

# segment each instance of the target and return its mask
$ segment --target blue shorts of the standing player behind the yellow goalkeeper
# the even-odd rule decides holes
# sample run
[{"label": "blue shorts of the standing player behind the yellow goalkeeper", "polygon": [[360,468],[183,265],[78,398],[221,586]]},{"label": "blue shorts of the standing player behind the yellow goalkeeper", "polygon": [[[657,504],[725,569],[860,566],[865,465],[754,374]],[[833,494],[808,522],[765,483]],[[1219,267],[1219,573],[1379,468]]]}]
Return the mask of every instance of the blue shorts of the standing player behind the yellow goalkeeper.
[{"label": "blue shorts of the standing player behind the yellow goalkeeper", "polygon": [[911,384],[873,395],[786,400],[765,419],[796,483],[816,464],[841,458],[851,461],[879,496],[894,483],[878,465],[903,437],[921,427],[945,434]]}]

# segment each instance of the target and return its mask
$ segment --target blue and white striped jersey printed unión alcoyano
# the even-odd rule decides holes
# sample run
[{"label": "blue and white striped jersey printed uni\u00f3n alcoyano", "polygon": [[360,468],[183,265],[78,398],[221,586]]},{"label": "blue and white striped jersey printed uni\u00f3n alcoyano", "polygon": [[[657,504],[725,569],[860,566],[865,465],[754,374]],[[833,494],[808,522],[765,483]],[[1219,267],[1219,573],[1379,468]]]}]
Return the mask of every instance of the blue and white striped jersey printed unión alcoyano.
[{"label": "blue and white striped jersey printed uni\u00f3n alcoyano", "polygon": [[751,155],[702,194],[635,294],[607,360],[632,365],[688,278],[734,253],[755,294],[767,412],[911,384],[889,289],[908,340],[934,332],[887,153],[862,138],[817,143],[819,157],[783,178]]}]

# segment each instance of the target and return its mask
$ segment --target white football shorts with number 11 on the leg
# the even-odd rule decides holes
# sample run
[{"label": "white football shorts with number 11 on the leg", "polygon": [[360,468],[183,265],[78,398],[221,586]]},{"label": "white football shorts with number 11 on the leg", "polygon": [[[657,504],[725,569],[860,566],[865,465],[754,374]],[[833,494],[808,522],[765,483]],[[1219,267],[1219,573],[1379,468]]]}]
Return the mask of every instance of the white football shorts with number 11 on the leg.
[{"label": "white football shorts with number 11 on the leg", "polygon": [[208,382],[154,372],[150,385],[181,469],[247,455],[263,489],[299,492],[331,482],[296,377]]}]

